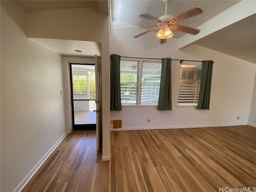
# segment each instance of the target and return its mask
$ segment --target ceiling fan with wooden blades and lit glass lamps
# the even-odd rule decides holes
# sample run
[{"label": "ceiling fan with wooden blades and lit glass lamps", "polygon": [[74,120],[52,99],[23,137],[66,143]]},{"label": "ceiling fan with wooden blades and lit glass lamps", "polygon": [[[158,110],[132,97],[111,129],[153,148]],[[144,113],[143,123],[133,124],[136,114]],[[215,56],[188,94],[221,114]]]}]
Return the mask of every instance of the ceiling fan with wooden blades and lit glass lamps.
[{"label": "ceiling fan with wooden blades and lit glass lamps", "polygon": [[165,43],[166,39],[170,38],[173,36],[173,33],[171,31],[171,29],[173,30],[178,30],[178,31],[182,31],[185,33],[190,33],[193,35],[196,35],[200,32],[200,30],[198,29],[194,29],[191,27],[187,27],[187,26],[182,26],[182,25],[177,25],[176,22],[180,22],[182,20],[185,20],[186,18],[190,18],[192,16],[201,14],[203,12],[202,9],[195,7],[187,12],[184,12],[176,17],[173,17],[172,15],[168,15],[166,14],[167,12],[167,4],[169,2],[169,0],[163,0],[163,2],[165,3],[165,15],[160,16],[159,18],[156,18],[150,14],[142,14],[140,15],[140,17],[151,20],[153,22],[156,22],[157,27],[151,28],[149,30],[146,30],[145,32],[142,32],[136,36],[134,36],[134,38],[138,38],[144,34],[147,34],[148,32],[151,31],[155,31],[160,29],[156,36],[160,39],[160,43]]}]

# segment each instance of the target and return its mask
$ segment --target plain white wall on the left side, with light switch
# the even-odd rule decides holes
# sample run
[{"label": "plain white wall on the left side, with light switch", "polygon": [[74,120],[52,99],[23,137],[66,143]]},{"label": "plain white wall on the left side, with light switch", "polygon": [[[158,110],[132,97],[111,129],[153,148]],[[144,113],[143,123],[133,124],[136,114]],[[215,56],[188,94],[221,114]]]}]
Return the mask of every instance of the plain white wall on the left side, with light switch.
[{"label": "plain white wall on the left side, with light switch", "polygon": [[66,132],[61,56],[24,32],[26,13],[1,1],[2,192],[13,191]]}]

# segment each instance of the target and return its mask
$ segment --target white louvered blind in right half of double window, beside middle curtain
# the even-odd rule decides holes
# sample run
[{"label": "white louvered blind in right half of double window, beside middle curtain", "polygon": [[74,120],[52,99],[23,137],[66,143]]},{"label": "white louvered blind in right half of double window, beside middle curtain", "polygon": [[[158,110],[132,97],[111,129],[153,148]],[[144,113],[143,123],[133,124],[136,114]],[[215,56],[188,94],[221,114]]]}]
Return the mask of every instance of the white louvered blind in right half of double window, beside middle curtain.
[{"label": "white louvered blind in right half of double window, beside middle curtain", "polygon": [[142,78],[141,78],[141,105],[157,105],[160,79],[161,79],[161,63],[142,62]]}]

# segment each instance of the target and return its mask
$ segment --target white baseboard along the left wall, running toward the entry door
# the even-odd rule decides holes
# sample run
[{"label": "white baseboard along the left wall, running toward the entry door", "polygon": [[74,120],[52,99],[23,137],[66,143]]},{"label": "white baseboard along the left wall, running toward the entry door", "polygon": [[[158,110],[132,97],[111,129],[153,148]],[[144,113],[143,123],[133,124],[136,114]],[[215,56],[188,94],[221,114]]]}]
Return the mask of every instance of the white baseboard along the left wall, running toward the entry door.
[{"label": "white baseboard along the left wall, running toward the entry door", "polygon": [[21,192],[30,179],[34,176],[36,171],[42,166],[46,159],[52,154],[52,152],[58,147],[60,142],[67,136],[67,133],[64,133],[59,140],[46,152],[46,154],[38,161],[38,163],[30,170],[30,172],[24,177],[24,179],[18,184],[18,186],[13,190],[13,192]]}]

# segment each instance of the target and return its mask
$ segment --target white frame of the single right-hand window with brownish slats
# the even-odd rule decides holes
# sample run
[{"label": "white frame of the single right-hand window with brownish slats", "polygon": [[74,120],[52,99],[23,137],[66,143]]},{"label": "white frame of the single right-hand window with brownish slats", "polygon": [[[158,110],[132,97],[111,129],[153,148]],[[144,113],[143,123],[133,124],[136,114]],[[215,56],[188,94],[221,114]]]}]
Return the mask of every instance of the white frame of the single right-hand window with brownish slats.
[{"label": "white frame of the single right-hand window with brownish slats", "polygon": [[[183,61],[182,63],[180,63],[179,65],[179,70],[178,70],[178,81],[177,81],[177,93],[176,93],[176,107],[196,107],[198,105],[198,103],[188,103],[188,104],[178,104],[178,97],[179,97],[179,90],[180,90],[180,72],[181,72],[181,65],[202,65],[202,62],[194,62],[194,61]],[[199,90],[200,90],[200,86],[201,86],[201,79],[200,79],[200,85],[199,85]],[[198,92],[199,94],[199,92]]]}]

